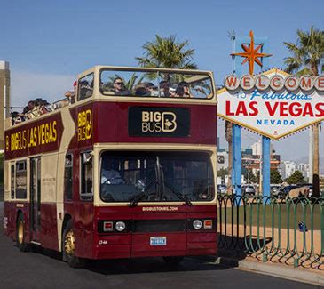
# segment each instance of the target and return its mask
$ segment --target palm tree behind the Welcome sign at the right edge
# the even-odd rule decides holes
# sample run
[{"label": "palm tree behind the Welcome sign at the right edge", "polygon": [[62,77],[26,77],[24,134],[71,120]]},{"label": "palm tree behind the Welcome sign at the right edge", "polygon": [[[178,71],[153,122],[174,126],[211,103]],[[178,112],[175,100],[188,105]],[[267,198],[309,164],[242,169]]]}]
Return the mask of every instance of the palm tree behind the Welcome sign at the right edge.
[{"label": "palm tree behind the Welcome sign at the right edge", "polygon": [[[297,30],[297,44],[287,43],[288,51],[292,56],[285,58],[288,73],[296,73],[297,76],[319,75],[320,58],[324,53],[324,31],[311,28],[309,32]],[[313,195],[320,197],[319,178],[319,124],[313,126]]]}]

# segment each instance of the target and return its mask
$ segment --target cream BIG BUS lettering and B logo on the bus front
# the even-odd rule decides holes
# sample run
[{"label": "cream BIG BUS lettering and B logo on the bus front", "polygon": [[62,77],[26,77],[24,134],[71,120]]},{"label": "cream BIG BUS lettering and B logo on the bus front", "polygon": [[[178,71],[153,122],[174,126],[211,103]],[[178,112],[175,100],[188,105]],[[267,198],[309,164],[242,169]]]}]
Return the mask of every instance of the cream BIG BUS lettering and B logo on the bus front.
[{"label": "cream BIG BUS lettering and B logo on the bus front", "polygon": [[142,132],[174,132],[177,116],[170,111],[142,111]]}]

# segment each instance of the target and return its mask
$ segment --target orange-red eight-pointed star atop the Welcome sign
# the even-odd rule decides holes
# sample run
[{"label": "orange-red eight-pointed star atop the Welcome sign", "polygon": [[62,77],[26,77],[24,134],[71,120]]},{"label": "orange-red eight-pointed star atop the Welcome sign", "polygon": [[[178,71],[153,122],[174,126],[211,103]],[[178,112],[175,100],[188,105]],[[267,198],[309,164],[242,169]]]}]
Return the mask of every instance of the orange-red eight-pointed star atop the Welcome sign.
[{"label": "orange-red eight-pointed star atop the Welcome sign", "polygon": [[244,52],[232,53],[231,55],[245,57],[245,60],[243,60],[241,64],[244,64],[249,61],[249,74],[253,75],[254,62],[256,62],[260,67],[262,67],[262,62],[261,60],[259,60],[259,58],[269,57],[272,56],[273,54],[258,52],[263,46],[263,44],[258,44],[257,47],[254,48],[253,31],[249,31],[249,36],[251,37],[251,43],[249,44],[249,46],[246,44],[241,44],[241,47],[243,48]]}]

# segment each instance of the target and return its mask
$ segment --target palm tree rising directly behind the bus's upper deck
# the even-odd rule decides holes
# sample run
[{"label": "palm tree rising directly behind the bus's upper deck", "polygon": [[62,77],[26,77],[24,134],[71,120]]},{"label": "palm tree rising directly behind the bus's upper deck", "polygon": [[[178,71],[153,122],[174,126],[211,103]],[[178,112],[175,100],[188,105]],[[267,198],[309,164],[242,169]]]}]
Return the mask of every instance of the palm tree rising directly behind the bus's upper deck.
[{"label": "palm tree rising directly behind the bus's upper deck", "polygon": [[[138,64],[145,68],[197,69],[193,62],[194,49],[187,49],[189,42],[178,42],[176,36],[161,37],[155,35],[154,42],[143,44],[144,57],[136,57]],[[170,76],[164,74],[164,79]]]}]

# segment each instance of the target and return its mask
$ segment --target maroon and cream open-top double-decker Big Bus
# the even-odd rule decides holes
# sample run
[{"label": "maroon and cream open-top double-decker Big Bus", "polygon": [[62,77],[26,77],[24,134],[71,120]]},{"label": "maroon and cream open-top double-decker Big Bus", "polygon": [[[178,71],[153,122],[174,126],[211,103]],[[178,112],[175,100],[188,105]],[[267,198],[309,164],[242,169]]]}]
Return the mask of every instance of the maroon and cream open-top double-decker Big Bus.
[{"label": "maroon and cream open-top double-decker Big Bus", "polygon": [[96,66],[69,105],[8,120],[4,143],[4,232],[20,251],[71,267],[217,253],[211,72]]}]

